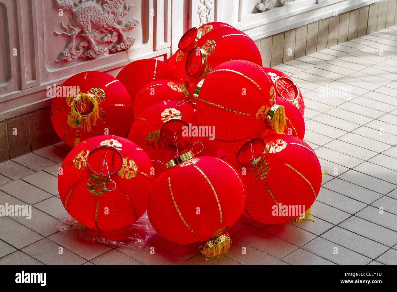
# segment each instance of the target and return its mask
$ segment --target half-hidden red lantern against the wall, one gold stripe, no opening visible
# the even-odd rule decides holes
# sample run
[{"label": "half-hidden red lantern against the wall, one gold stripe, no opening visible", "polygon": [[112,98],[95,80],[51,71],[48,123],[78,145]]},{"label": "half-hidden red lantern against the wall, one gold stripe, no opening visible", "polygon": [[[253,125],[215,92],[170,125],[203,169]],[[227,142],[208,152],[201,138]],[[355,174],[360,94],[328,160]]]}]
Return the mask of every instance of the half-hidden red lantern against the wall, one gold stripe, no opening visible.
[{"label": "half-hidden red lantern against the wall, one gold stripe, no opening visible", "polygon": [[176,81],[177,77],[170,64],[155,59],[143,59],[124,66],[117,74],[117,79],[127,88],[134,103],[138,92],[146,84],[161,79]]}]

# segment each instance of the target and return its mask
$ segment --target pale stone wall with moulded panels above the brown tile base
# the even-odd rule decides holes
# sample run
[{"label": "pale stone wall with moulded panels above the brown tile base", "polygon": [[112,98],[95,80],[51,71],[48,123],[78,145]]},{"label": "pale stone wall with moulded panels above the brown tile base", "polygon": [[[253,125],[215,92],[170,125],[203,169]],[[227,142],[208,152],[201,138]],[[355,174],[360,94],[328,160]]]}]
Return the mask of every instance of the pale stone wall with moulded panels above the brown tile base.
[{"label": "pale stone wall with moulded panels above the brown tile base", "polygon": [[[122,2],[121,8],[112,12],[110,6],[118,1]],[[46,87],[59,85],[75,73],[98,70],[116,76],[133,60],[166,60],[190,27],[222,21],[259,40],[331,17],[335,12],[342,14],[379,1],[262,0],[262,10],[269,8],[260,12],[256,9],[258,0],[97,0],[97,4],[91,0],[89,5],[95,6],[93,11],[101,9],[113,14],[123,21],[122,26],[129,21],[133,24],[132,28],[122,31],[125,38],[134,39],[133,45],[128,50],[112,52],[115,45],[120,45],[117,31],[118,40],[113,42],[115,36],[110,34],[107,43],[98,41],[106,37],[106,32],[98,31],[93,37],[94,43],[104,52],[95,58],[62,59],[62,50],[67,51],[73,32],[79,28],[77,22],[84,25],[90,22],[78,9],[73,12],[77,2],[79,0],[0,0],[0,121],[50,105],[52,98],[47,96]],[[289,3],[281,5],[282,2]],[[69,5],[73,3],[76,3],[73,7]],[[127,12],[125,8],[129,6],[132,7]],[[96,30],[91,28],[91,32]],[[69,35],[57,34],[62,31]],[[76,38],[75,47],[84,41],[89,48],[89,41],[83,36]]]}]

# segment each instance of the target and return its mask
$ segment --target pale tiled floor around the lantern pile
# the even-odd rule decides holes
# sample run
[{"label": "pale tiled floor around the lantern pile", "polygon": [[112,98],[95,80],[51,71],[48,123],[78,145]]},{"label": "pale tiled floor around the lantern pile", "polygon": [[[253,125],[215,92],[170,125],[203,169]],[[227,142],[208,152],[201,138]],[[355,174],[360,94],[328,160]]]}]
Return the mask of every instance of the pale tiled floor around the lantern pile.
[{"label": "pale tiled floor around the lantern pile", "polygon": [[69,147],[58,143],[0,164],[0,204],[33,206],[31,220],[0,218],[0,264],[397,264],[397,26],[276,68],[301,88],[304,140],[330,174],[316,222],[242,217],[219,262],[157,234],[142,250],[71,238],[55,229],[67,216],[56,176]]}]

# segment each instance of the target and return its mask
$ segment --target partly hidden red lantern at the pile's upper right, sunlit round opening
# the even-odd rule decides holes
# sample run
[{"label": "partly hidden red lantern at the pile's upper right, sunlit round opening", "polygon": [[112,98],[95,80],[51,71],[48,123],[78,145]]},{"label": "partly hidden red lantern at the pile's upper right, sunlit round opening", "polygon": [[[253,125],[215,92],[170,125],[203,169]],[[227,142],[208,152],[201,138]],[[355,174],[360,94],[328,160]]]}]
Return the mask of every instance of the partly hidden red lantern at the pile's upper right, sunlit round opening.
[{"label": "partly hidden red lantern at the pile's upper right, sunlit round opening", "polygon": [[292,102],[301,112],[304,114],[304,102],[301,90],[298,85],[284,72],[281,72],[274,68],[263,68],[266,73],[270,76],[274,84],[276,85],[277,97],[283,97],[287,101]]}]

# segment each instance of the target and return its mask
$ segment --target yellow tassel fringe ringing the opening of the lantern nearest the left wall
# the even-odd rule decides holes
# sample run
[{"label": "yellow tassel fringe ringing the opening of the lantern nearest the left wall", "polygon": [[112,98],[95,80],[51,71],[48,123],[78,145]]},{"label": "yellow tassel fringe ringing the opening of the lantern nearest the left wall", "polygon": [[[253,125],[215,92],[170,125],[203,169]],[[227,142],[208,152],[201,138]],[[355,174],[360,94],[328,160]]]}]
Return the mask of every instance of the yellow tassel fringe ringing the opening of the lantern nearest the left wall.
[{"label": "yellow tassel fringe ringing the opening of the lantern nearest the left wall", "polygon": [[[93,104],[94,106],[93,111],[90,112],[89,114],[82,115],[77,110],[77,106],[75,105],[77,102],[81,102],[81,104],[83,104],[84,107],[86,106],[86,104]],[[91,127],[96,126],[96,120],[99,118],[98,101],[96,101],[95,97],[91,95],[80,93],[79,99],[76,99],[71,103],[70,117],[71,120],[75,121],[76,124],[80,128],[83,128],[84,131],[86,132],[91,131]]]}]

